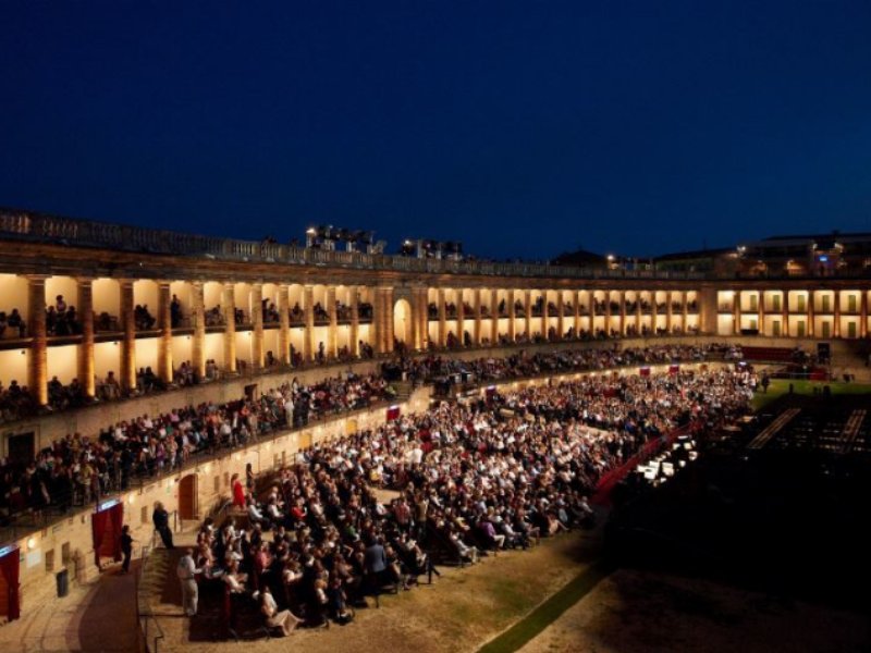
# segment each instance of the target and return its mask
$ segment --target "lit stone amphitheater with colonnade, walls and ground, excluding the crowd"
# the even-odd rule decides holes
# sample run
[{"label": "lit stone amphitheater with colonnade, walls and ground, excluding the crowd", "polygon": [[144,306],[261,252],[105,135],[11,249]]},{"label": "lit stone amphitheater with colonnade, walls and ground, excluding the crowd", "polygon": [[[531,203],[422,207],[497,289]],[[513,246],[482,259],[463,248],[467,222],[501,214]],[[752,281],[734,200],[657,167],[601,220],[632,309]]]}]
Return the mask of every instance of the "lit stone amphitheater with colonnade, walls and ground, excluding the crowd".
[{"label": "lit stone amphitheater with colonnade, walls and ground, excluding the crowd", "polygon": [[[716,345],[717,352],[739,349],[740,362],[772,377],[795,374],[781,383],[815,379],[820,389],[849,394],[871,382],[871,278],[850,258],[856,247],[856,260],[864,260],[866,242],[765,247],[757,246],[758,257],[747,248],[717,254],[711,266],[673,258],[584,268],[340,251],[2,210],[0,311],[15,310],[21,325],[4,324],[0,336],[0,454],[7,469],[26,468],[68,434],[96,439],[107,426],[143,415],[254,401],[292,380],[307,385],[377,375],[385,362],[437,355],[499,361],[520,353]],[[58,313],[69,316],[69,307],[75,316],[60,326]],[[812,362],[798,365],[797,350]],[[717,355],[679,365],[633,362],[613,373],[655,378],[678,368],[735,370],[736,362]],[[300,452],[426,411],[457,393],[459,401],[483,402],[492,393],[605,372],[612,370],[486,382],[457,373],[440,397],[431,379],[400,374],[389,396],[365,408],[255,433],[124,483],[109,479],[65,506],[38,497],[37,506],[13,502],[7,480],[0,648],[725,651],[740,642],[752,651],[864,650],[867,624],[849,601],[821,605],[800,593],[615,563],[604,551],[611,497],[596,505],[594,528],[547,538],[528,552],[494,551],[470,567],[445,564],[430,583],[376,596],[379,607],[369,597],[347,625],[300,628],[287,639],[244,633],[240,643],[226,624],[184,618],[177,556],[159,545],[151,523],[156,502],[171,515],[176,544],[192,544],[206,517],[232,514],[232,479],[247,469],[258,482],[272,479]],[[835,417],[829,405],[824,417],[815,405],[760,409],[752,438],[740,424],[726,426],[740,433],[732,444],[746,438],[741,447],[763,453],[795,443],[836,452],[867,476],[871,418],[857,397]],[[827,424],[822,439],[819,424]],[[393,494],[384,492],[389,502]],[[122,523],[134,538],[130,576],[119,576],[113,562]],[[653,551],[662,543],[643,545]]]}]

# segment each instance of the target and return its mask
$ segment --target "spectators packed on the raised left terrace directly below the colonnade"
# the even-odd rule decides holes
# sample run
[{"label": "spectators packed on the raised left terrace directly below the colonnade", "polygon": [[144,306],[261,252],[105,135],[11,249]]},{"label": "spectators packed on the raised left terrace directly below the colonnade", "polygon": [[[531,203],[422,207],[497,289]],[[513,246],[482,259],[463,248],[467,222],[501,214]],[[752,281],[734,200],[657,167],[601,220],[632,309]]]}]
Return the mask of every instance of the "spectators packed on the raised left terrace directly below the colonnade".
[{"label": "spectators packed on the raised left terrace directly below the colonnade", "polygon": [[[0,461],[0,517],[25,508],[65,510],[107,491],[123,490],[135,478],[177,469],[192,455],[243,446],[278,429],[365,409],[394,392],[378,375],[345,374],[311,385],[294,380],[259,398],[143,415],[110,424],[96,438],[69,434],[24,467]],[[26,396],[17,384],[7,393]]]}]

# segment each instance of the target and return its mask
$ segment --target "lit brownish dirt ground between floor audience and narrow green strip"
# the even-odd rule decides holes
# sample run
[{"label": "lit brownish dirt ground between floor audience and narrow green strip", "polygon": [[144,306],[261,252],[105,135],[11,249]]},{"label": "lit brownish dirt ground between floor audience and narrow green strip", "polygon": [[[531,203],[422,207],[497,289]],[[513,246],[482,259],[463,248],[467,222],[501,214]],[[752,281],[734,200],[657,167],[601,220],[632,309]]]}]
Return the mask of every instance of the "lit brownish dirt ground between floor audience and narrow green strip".
[{"label": "lit brownish dirt ground between floor audience and narrow green strip", "polygon": [[[380,608],[373,607],[370,599],[372,607],[358,609],[353,624],[298,629],[284,641],[308,653],[476,651],[584,570],[597,550],[597,535],[569,533],[542,541],[530,551],[489,556],[464,569],[441,568],[442,576],[432,586],[384,595]],[[234,642],[207,641],[210,638],[201,633],[194,633],[193,639],[203,641],[192,641],[189,621],[181,616],[181,600],[175,596],[177,581],[173,582],[170,571],[172,560],[159,550],[143,581],[146,591],[148,583],[154,584],[152,609],[163,615],[159,623],[165,638],[160,650],[217,653],[229,645],[238,648]],[[162,578],[169,579],[165,587],[159,587]],[[277,644],[284,646],[283,641],[273,639],[246,641],[244,649],[246,653],[273,652]]]}]

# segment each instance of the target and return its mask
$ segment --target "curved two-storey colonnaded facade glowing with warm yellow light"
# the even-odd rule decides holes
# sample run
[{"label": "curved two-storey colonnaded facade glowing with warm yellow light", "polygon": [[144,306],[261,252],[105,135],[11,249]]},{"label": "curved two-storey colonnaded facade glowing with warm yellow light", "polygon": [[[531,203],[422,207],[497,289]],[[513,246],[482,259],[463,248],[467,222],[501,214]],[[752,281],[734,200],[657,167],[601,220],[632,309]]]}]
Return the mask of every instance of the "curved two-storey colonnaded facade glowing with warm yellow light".
[{"label": "curved two-storey colonnaded facade glowing with warm yellow light", "polygon": [[[871,281],[416,259],[0,211],[0,382],[137,386],[316,358],[664,334],[863,338]],[[77,324],[52,329],[56,303]],[[48,312],[46,310],[48,308]],[[9,318],[7,318],[9,320]],[[369,349],[371,348],[371,349]],[[363,349],[363,350],[361,350]],[[182,367],[182,364],[185,364]]]}]

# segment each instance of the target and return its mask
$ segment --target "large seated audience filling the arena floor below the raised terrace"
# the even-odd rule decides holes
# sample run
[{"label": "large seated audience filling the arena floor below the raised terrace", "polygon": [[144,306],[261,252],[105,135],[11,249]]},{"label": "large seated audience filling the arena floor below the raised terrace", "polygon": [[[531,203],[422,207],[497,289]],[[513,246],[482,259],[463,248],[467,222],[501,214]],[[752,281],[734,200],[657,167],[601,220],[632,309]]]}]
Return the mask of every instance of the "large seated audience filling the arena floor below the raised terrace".
[{"label": "large seated audience filling the arena floor below the raised terrace", "polygon": [[268,589],[294,624],[343,621],[369,594],[409,589],[436,557],[474,564],[589,526],[604,473],[677,426],[737,417],[751,395],[746,371],[717,371],[443,402],[302,451],[260,493],[238,481],[249,526],[207,520],[197,567],[236,595]]}]

